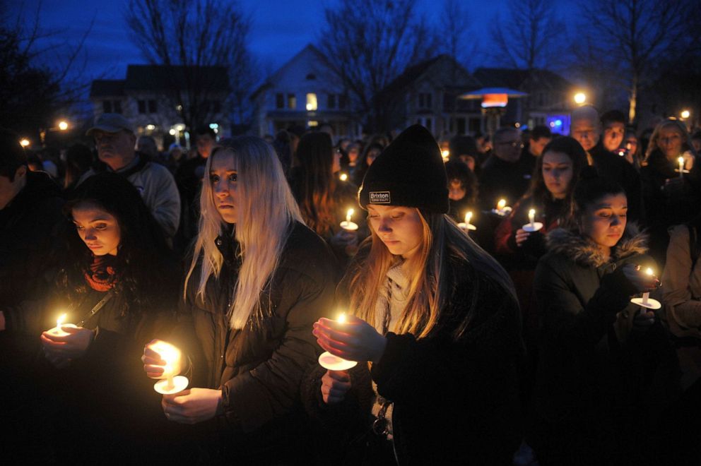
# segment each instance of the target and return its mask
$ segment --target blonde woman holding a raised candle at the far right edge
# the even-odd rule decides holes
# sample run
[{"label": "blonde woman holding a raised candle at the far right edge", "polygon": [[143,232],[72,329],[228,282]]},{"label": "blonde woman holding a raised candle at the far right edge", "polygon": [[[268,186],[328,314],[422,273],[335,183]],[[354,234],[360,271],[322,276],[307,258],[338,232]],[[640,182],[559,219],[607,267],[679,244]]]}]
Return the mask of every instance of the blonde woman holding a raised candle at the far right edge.
[{"label": "blonde woman holding a raised candle at the far right edge", "polygon": [[[684,172],[680,172],[680,157]],[[669,242],[667,229],[688,222],[701,203],[700,160],[682,121],[669,119],[657,125],[647,146],[640,177],[650,253],[664,265]]]}]

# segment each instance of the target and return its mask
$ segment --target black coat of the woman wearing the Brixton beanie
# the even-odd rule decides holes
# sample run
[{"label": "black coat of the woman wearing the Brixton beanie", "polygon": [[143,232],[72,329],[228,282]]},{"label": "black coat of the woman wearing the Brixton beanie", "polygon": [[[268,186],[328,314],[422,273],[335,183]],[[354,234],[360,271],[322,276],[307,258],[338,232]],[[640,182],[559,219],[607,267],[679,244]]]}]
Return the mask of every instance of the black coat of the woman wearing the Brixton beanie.
[{"label": "black coat of the woman wearing the Brixton beanie", "polygon": [[[387,333],[379,362],[370,371],[365,363],[350,370],[351,390],[343,402],[324,404],[320,386],[325,370],[320,366],[306,378],[302,398],[317,423],[314,449],[322,452],[324,464],[359,464],[363,456],[383,464],[382,458],[368,458],[372,453],[365,450],[367,443],[387,450],[370,431],[371,378],[379,395],[394,403],[391,422],[399,464],[511,464],[522,427],[518,305],[487,274],[456,260],[450,269],[445,280],[454,287],[437,329],[422,339]],[[452,333],[473,298],[473,321],[454,340]],[[391,455],[384,458],[391,461]]]}]

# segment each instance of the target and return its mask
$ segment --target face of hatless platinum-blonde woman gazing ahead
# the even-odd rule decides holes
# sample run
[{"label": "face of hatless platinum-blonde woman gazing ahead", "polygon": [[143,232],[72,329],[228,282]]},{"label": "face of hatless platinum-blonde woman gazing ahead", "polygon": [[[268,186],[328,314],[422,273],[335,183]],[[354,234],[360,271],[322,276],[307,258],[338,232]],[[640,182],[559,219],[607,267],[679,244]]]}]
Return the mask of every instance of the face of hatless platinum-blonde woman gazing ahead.
[{"label": "face of hatless platinum-blonde woman gazing ahead", "polygon": [[212,201],[222,220],[227,223],[236,223],[237,219],[237,179],[233,154],[227,150],[216,152],[211,161],[209,182],[212,186]]}]

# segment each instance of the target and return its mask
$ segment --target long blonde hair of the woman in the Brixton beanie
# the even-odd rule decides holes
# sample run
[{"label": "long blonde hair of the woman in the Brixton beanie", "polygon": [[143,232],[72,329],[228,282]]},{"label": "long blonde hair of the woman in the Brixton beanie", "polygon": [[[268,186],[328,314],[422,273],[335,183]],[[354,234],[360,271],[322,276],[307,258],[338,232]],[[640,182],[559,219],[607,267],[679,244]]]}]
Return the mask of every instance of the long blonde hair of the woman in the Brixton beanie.
[{"label": "long blonde hair of the woman in the Brixton beanie", "polygon": [[[506,292],[514,301],[516,294],[512,282],[505,270],[475,244],[455,222],[447,215],[422,213],[418,210],[423,225],[421,248],[406,264],[409,277],[408,299],[406,308],[389,330],[394,333],[411,333],[417,338],[427,337],[439,325],[442,311],[451,298],[456,283],[450,267],[450,258],[456,258],[463,263],[470,275],[476,278],[476,271],[484,273]],[[366,322],[375,323],[377,297],[387,280],[387,271],[397,261],[387,246],[377,236],[370,225],[370,237],[365,239],[361,248],[370,247],[367,257],[357,264],[350,277],[350,309]],[[476,299],[478,297],[478,280],[473,280],[472,302],[469,312],[453,331],[453,337],[458,339],[469,327],[474,316]]]}]

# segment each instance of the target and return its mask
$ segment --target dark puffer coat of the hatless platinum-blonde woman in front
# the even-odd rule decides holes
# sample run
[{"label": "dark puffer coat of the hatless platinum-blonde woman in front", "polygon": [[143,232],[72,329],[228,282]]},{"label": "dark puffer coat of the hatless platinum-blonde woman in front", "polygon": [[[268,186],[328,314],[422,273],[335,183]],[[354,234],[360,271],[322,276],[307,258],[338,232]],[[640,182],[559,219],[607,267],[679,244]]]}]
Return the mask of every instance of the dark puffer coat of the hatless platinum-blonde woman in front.
[{"label": "dark puffer coat of the hatless platinum-blonde woman in front", "polygon": [[[276,272],[261,292],[262,320],[232,330],[240,256],[230,236],[216,244],[225,263],[196,296],[200,264],[179,306],[179,332],[171,337],[191,364],[191,387],[222,390],[224,414],[202,429],[212,441],[211,461],[295,462],[306,458],[299,387],[302,374],[321,353],[312,323],[330,316],[337,268],[321,238],[296,223]],[[218,443],[217,443],[218,442]]]}]

